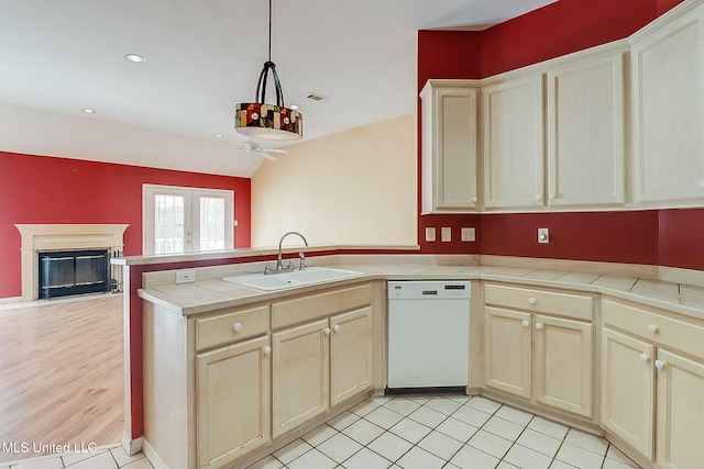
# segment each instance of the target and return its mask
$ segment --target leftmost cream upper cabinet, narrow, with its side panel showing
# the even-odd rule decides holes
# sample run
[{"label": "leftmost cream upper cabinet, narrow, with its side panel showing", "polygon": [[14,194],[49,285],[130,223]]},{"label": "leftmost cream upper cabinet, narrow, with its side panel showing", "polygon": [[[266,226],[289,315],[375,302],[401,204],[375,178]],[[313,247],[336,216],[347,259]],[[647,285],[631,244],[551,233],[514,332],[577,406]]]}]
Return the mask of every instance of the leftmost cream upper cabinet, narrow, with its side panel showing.
[{"label": "leftmost cream upper cabinet, narrow, with its side panel showing", "polygon": [[420,98],[422,213],[477,209],[477,96],[474,80],[428,80]]}]

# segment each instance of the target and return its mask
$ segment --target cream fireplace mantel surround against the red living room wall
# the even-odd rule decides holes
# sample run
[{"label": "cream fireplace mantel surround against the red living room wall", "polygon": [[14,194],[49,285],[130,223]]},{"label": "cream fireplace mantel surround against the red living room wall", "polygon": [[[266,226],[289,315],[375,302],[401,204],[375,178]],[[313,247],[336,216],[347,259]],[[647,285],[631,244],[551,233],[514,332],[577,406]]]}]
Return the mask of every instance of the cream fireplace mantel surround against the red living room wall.
[{"label": "cream fireplace mantel surround against the red living room wall", "polygon": [[22,301],[38,297],[38,253],[108,249],[122,252],[129,224],[16,224],[22,235]]}]

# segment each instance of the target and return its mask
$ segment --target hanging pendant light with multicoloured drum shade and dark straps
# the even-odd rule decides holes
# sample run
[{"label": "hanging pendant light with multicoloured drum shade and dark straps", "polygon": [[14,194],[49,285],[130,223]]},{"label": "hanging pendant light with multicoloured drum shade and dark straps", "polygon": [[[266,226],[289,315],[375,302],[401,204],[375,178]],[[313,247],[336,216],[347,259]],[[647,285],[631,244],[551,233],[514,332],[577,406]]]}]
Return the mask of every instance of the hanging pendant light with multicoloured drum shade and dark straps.
[{"label": "hanging pendant light with multicoloured drum shade and dark straps", "polygon": [[[276,104],[266,103],[266,80],[268,72],[274,76]],[[255,102],[243,102],[234,107],[234,129],[253,138],[300,139],[304,136],[304,116],[300,112],[286,108],[282,83],[272,62],[272,0],[268,0],[268,60],[256,83]]]}]

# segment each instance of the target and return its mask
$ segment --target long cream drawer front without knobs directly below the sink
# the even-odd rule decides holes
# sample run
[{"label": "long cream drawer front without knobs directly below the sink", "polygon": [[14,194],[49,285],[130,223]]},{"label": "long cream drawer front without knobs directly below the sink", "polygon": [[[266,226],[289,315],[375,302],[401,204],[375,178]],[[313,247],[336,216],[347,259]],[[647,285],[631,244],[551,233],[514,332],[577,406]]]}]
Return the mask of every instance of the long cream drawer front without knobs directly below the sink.
[{"label": "long cream drawer front without knobs directly below the sink", "polygon": [[370,283],[279,301],[272,304],[272,328],[277,330],[293,324],[315,321],[366,306],[371,302],[372,286]]}]

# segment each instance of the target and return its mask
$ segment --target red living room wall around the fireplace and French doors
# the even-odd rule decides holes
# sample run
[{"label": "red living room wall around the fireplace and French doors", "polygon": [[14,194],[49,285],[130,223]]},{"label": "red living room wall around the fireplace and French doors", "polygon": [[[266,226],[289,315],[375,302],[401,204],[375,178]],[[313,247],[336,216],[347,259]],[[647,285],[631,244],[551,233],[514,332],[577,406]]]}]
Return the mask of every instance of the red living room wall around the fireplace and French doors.
[{"label": "red living room wall around the fireplace and French doors", "polygon": [[142,254],[143,183],[233,190],[234,247],[250,246],[250,179],[0,152],[0,298],[22,294],[15,223],[129,223],[124,254]]}]

